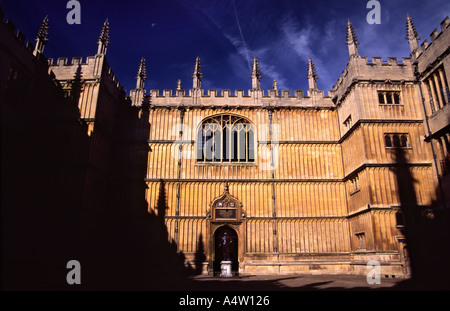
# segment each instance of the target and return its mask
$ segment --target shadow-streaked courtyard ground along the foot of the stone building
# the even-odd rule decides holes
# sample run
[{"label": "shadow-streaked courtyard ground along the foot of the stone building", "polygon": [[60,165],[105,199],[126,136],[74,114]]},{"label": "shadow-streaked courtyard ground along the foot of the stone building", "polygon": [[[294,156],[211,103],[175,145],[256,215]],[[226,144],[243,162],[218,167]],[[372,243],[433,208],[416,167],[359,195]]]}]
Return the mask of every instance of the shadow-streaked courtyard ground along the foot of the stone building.
[{"label": "shadow-streaked courtyard ground along the foot of the stone building", "polygon": [[[117,286],[110,283],[101,290],[138,291],[442,291],[450,290],[446,284],[433,286],[407,279],[381,278],[380,284],[368,284],[364,276],[353,275],[292,275],[292,276],[240,276],[219,278],[205,275],[158,274],[155,271],[130,272],[115,275]],[[80,289],[96,290],[94,287]],[[99,288],[100,289],[100,288]]]}]

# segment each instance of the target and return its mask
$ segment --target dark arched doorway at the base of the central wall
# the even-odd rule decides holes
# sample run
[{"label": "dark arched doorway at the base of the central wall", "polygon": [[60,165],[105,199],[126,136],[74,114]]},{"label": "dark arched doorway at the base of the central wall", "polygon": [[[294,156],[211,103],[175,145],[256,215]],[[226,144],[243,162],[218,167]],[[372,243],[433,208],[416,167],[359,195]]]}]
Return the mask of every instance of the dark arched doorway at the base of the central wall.
[{"label": "dark arched doorway at the base of the central wall", "polygon": [[232,262],[233,274],[239,270],[238,235],[229,226],[221,226],[214,233],[214,275],[220,273],[220,263],[223,260]]}]

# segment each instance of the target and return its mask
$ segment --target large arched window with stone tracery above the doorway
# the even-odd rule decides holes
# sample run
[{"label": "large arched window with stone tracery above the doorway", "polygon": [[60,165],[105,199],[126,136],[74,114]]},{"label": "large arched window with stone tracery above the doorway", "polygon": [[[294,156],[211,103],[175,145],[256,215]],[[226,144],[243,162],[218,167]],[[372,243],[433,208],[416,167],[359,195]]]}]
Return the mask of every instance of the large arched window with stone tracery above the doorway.
[{"label": "large arched window with stone tracery above the doorway", "polygon": [[255,162],[254,132],[253,124],[240,116],[206,118],[197,133],[197,162]]}]

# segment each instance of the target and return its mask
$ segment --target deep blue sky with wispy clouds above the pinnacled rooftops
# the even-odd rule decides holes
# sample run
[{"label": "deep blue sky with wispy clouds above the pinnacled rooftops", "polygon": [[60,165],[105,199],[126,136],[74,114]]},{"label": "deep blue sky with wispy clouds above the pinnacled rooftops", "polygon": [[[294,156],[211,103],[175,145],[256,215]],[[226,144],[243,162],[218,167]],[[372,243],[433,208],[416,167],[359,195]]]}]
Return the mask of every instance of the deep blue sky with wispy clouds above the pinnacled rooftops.
[{"label": "deep blue sky with wispy clouds above the pinnacled rooftops", "polygon": [[91,56],[106,18],[111,44],[107,59],[126,90],[136,85],[141,57],[147,60],[146,89],[175,89],[181,79],[192,87],[192,70],[201,58],[203,89],[250,89],[249,64],[260,60],[263,89],[306,90],[307,60],[312,57],[318,87],[332,89],[348,60],[346,23],[360,42],[359,54],[408,57],[406,15],[421,37],[450,15],[448,0],[379,0],[381,24],[366,21],[368,0],[80,0],[81,24],[66,22],[67,0],[0,0],[27,40],[33,41],[43,18],[50,21],[47,57]]}]

